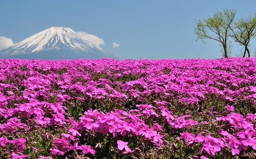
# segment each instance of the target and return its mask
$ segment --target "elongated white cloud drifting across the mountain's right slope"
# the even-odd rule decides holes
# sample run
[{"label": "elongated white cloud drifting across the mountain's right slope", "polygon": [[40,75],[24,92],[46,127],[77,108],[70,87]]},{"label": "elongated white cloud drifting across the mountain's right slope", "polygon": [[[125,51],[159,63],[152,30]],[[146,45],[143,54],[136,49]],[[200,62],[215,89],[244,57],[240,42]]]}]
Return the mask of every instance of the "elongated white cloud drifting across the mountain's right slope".
[{"label": "elongated white cloud drifting across the mountain's right slope", "polygon": [[92,44],[94,44],[96,46],[105,44],[105,41],[103,39],[101,39],[95,35],[88,34],[87,32],[78,31],[78,32],[74,32],[74,33],[67,33],[67,36],[69,38],[80,38],[80,39],[90,41]]}]

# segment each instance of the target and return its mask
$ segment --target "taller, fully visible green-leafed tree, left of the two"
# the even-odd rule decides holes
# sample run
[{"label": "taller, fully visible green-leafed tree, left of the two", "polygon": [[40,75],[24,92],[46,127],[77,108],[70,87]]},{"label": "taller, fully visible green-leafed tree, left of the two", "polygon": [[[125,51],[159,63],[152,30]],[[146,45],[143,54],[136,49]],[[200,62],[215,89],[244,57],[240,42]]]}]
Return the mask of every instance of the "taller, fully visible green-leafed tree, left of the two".
[{"label": "taller, fully visible green-leafed tree, left of the two", "polygon": [[208,16],[203,21],[196,20],[195,33],[197,39],[212,39],[219,41],[223,49],[224,57],[228,57],[228,37],[230,32],[230,26],[233,24],[236,15],[235,10],[223,10],[223,12],[214,13],[213,17]]}]

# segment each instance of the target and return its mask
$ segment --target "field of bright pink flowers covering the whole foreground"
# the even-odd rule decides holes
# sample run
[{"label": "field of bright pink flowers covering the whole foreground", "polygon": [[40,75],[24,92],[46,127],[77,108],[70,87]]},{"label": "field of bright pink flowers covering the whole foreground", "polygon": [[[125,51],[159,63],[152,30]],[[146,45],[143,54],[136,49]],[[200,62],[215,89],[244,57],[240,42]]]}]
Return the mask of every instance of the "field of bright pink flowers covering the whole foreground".
[{"label": "field of bright pink flowers covering the whole foreground", "polygon": [[0,158],[255,158],[256,58],[0,59]]}]

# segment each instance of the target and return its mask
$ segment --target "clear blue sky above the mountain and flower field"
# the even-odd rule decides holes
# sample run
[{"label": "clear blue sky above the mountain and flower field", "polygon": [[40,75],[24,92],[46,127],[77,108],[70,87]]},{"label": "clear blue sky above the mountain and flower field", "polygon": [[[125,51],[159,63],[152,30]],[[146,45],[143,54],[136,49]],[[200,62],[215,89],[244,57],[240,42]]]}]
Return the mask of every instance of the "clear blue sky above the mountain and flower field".
[{"label": "clear blue sky above the mountain and flower field", "polygon": [[[18,43],[50,27],[68,27],[103,39],[100,47],[121,59],[221,58],[218,42],[196,42],[195,19],[223,9],[237,10],[238,19],[255,13],[255,6],[255,0],[0,1],[0,36]],[[256,51],[256,40],[251,44]],[[233,42],[232,55],[241,49]]]}]

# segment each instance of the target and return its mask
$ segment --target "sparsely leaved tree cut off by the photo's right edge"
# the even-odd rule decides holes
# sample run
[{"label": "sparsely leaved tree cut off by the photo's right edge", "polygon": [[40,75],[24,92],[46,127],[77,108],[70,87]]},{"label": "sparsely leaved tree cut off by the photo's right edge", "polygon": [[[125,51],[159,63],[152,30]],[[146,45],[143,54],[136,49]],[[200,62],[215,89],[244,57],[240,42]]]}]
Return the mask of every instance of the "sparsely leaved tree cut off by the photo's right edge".
[{"label": "sparsely leaved tree cut off by the photo's right edge", "polygon": [[256,36],[256,15],[248,16],[247,18],[241,18],[235,22],[234,27],[230,26],[232,31],[231,37],[239,43],[239,45],[244,46],[244,54],[247,52],[248,57],[250,57],[249,43],[250,39]]}]

